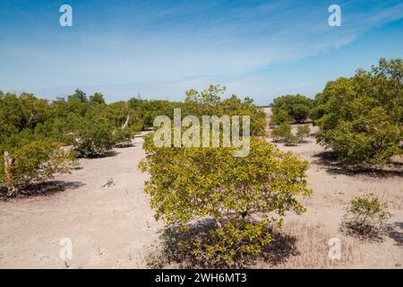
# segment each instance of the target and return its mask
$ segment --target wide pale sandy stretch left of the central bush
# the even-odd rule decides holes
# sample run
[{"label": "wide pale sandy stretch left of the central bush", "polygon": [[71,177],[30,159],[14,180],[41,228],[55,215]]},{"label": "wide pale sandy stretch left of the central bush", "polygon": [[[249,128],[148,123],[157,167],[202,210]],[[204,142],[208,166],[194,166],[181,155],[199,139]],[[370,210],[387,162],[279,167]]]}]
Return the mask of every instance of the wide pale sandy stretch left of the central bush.
[{"label": "wide pale sandy stretch left of the central bush", "polygon": [[[143,192],[142,138],[116,155],[81,160],[80,170],[56,178],[64,192],[0,203],[0,268],[139,268],[160,224]],[[100,187],[113,178],[115,185]],[[64,262],[60,239],[73,242]]]}]

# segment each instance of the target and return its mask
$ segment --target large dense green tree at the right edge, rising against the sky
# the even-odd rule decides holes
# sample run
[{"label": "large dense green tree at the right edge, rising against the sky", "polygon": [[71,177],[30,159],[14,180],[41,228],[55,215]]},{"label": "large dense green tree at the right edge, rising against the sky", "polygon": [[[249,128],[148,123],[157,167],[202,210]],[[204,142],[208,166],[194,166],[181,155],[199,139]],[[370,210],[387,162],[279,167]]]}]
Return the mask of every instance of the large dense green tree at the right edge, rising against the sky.
[{"label": "large dense green tree at the right edge, rising against the sky", "polygon": [[402,78],[401,59],[381,59],[369,72],[327,83],[315,98],[318,142],[347,162],[384,164],[401,153]]}]

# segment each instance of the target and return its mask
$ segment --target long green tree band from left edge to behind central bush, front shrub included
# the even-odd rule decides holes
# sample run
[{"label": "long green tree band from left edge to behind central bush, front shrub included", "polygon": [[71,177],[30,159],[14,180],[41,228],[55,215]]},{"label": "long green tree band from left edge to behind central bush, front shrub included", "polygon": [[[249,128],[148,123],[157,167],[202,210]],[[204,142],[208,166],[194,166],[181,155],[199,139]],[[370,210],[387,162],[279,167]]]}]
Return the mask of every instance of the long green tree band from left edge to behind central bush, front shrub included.
[{"label": "long green tree band from left edge to behind central bush, front shrub included", "polygon": [[[210,86],[210,89],[221,89]],[[225,91],[225,89],[223,89]],[[264,135],[265,120],[251,99],[210,99],[201,108],[193,90],[184,102],[133,98],[107,104],[96,92],[88,97],[76,90],[66,99],[44,100],[31,93],[0,91],[0,187],[15,195],[31,184],[68,172],[76,157],[101,156],[116,144],[130,143],[133,135],[153,126],[160,115],[249,115],[252,133]]]}]

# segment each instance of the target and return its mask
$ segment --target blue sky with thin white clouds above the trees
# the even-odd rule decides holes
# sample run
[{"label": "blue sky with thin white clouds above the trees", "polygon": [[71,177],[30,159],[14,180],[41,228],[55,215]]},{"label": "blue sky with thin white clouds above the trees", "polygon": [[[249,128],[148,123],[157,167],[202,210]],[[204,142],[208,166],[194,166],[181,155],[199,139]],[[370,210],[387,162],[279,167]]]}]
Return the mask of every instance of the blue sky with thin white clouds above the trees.
[{"label": "blue sky with thin white clouds above the trees", "polygon": [[[73,27],[59,7],[73,7]],[[341,27],[328,7],[341,7]],[[77,87],[108,101],[183,100],[210,83],[268,104],[402,57],[403,3],[383,1],[0,2],[0,90],[48,99]]]}]

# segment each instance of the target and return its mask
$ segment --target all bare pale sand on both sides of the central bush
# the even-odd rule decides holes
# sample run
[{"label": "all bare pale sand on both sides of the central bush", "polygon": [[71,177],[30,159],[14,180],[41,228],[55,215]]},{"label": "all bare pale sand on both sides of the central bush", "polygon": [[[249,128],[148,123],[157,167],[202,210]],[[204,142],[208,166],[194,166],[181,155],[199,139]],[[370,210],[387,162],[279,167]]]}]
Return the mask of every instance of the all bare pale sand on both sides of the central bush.
[{"label": "all bare pale sand on both sides of the central bush", "polygon": [[[269,116],[270,109],[266,112]],[[0,203],[0,267],[146,267],[163,224],[155,222],[143,192],[147,175],[137,169],[145,155],[141,143],[141,137],[136,137],[133,147],[116,149],[113,156],[80,160],[79,169],[56,178],[63,192]],[[356,241],[353,248],[358,256],[344,267],[402,268],[402,177],[340,172],[318,157],[324,150],[313,137],[298,146],[278,145],[310,162],[308,182],[314,190],[311,198],[303,200],[307,212],[287,216],[288,222],[322,226],[329,237],[339,238],[346,246],[351,239],[338,231],[344,208],[354,196],[372,192],[389,203],[392,228],[381,243]],[[110,178],[113,184],[101,187]],[[73,242],[73,259],[59,257],[64,238]]]}]

